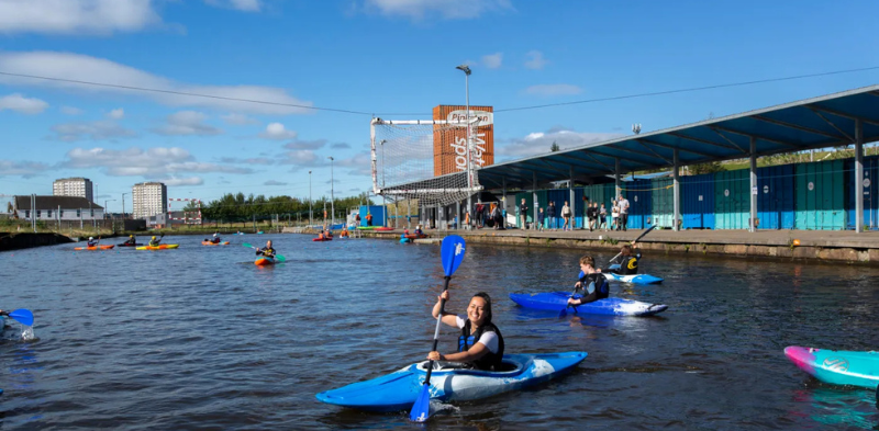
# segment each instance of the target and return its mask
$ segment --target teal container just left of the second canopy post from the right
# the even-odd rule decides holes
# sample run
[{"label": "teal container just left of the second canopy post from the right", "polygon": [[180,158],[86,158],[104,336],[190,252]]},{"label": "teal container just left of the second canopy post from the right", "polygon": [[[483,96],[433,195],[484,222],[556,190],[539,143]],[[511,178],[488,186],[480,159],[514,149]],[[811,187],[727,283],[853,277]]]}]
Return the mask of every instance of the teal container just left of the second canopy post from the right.
[{"label": "teal container just left of the second canopy post from the right", "polygon": [[714,174],[715,229],[747,229],[750,225],[750,175],[747,169]]}]

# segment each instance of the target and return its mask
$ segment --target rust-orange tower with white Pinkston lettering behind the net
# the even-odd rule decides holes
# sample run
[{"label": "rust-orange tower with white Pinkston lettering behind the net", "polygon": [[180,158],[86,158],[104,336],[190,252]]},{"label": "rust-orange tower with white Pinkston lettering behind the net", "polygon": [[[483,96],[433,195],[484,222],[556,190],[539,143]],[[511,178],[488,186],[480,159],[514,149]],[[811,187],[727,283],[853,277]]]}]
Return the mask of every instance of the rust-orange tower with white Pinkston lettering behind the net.
[{"label": "rust-orange tower with white Pinkston lettering behind the net", "polygon": [[[470,106],[470,118],[479,117],[470,127],[474,140],[472,158],[479,167],[494,163],[494,114],[492,106]],[[438,105],[433,109],[435,121],[467,121],[467,106]],[[437,124],[433,127],[434,175],[460,172],[467,167],[467,127]]]}]

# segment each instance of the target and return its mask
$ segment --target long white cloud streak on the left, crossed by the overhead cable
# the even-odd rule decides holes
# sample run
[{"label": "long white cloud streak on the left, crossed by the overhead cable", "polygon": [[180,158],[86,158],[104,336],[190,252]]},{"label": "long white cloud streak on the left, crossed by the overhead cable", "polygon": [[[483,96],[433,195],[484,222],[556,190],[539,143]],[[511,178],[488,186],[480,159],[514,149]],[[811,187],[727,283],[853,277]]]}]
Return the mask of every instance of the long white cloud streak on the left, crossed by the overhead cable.
[{"label": "long white cloud streak on the left, crossed by the overhead cable", "polygon": [[[280,88],[260,86],[201,86],[177,82],[173,79],[153,75],[108,59],[71,53],[0,52],[0,70],[9,73],[57,77],[85,82],[100,82],[112,86],[176,92],[178,94],[0,75],[0,83],[10,86],[46,87],[63,90],[77,90],[86,93],[124,94],[147,98],[170,106],[203,106],[224,110],[226,112],[289,115],[308,113],[310,111],[304,107],[283,106],[279,104],[312,105],[311,102],[301,101],[287,94],[287,91]],[[219,99],[179,93],[204,94]],[[223,98],[257,100],[276,104],[242,102]]]}]

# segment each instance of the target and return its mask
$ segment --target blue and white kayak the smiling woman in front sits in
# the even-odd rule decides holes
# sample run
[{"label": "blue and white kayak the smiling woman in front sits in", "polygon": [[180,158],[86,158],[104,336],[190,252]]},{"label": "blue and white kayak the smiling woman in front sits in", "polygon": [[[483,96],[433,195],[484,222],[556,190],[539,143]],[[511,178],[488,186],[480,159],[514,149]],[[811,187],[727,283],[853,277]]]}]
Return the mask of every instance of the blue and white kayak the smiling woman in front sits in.
[{"label": "blue and white kayak the smiling woman in front sits in", "polygon": [[[555,378],[582,362],[586,352],[504,354],[505,371],[478,371],[438,361],[431,374],[431,399],[468,401],[521,389]],[[418,399],[427,362],[409,365],[371,381],[323,392],[320,401],[369,411],[409,410]]]}]

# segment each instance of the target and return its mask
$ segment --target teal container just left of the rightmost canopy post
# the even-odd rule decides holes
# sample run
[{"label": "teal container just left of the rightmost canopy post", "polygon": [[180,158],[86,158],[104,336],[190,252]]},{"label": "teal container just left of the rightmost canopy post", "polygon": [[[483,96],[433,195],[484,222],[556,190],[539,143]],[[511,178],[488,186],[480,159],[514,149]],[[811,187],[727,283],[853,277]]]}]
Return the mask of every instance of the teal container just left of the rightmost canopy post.
[{"label": "teal container just left of the rightmost canopy post", "polygon": [[797,165],[797,229],[845,229],[843,160]]}]

